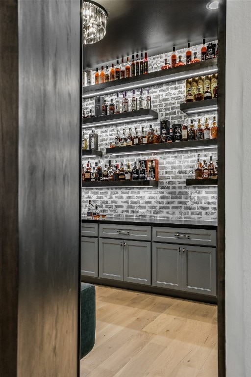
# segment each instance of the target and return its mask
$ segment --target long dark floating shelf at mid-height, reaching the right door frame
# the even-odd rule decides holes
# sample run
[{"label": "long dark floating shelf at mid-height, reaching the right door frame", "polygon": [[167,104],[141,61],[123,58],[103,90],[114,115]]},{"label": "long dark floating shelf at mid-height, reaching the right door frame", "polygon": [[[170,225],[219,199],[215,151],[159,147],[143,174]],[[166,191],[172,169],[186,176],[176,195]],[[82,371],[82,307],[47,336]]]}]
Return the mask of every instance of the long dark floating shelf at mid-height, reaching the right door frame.
[{"label": "long dark floating shelf at mid-height, reaching the right door frame", "polygon": [[169,152],[180,149],[216,148],[217,139],[181,141],[174,143],[141,144],[128,147],[106,148],[107,155],[130,155],[137,153]]}]

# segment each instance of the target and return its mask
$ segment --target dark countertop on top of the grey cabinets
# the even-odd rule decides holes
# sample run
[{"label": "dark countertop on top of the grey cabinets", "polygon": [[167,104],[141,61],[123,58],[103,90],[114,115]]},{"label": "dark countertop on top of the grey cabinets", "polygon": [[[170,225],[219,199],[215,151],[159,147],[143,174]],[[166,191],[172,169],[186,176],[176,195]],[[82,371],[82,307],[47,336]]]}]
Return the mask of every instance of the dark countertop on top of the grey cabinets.
[{"label": "dark countertop on top of the grey cabinets", "polygon": [[82,222],[108,223],[108,224],[129,224],[129,225],[149,225],[149,226],[171,226],[182,228],[217,229],[217,221],[211,220],[181,220],[168,218],[145,218],[145,217],[108,217],[105,220],[87,220],[82,217]]}]

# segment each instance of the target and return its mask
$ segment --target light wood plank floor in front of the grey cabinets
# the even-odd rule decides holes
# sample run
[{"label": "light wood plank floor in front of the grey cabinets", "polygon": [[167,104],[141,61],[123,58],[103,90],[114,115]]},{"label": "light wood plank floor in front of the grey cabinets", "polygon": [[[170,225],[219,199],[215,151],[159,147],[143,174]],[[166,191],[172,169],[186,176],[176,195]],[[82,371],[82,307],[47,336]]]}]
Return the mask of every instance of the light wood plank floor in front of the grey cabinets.
[{"label": "light wood plank floor in front of the grey cabinets", "polygon": [[96,286],[81,377],[217,377],[217,306]]}]

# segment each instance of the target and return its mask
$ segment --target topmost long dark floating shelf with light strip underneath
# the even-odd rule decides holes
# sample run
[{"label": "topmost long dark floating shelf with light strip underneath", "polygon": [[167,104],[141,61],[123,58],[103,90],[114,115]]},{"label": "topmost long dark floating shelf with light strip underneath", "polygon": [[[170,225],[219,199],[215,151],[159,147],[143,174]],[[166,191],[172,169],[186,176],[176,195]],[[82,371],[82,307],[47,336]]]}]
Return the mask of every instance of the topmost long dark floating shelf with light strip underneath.
[{"label": "topmost long dark floating shelf with light strip underneath", "polygon": [[201,75],[210,75],[217,72],[217,70],[217,58],[215,58],[171,69],[150,72],[149,74],[134,76],[128,79],[84,86],[82,95],[83,98],[103,96],[105,94],[121,92],[124,90],[132,90],[165,82],[185,80],[187,78]]}]

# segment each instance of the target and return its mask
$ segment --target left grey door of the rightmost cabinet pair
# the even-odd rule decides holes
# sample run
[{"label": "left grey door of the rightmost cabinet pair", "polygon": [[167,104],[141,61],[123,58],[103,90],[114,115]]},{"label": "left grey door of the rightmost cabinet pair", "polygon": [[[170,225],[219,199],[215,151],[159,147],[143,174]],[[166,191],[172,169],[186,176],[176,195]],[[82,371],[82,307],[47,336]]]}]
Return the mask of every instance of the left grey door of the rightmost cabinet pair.
[{"label": "left grey door of the rightmost cabinet pair", "polygon": [[152,242],[152,285],[182,290],[182,252],[179,245]]}]

